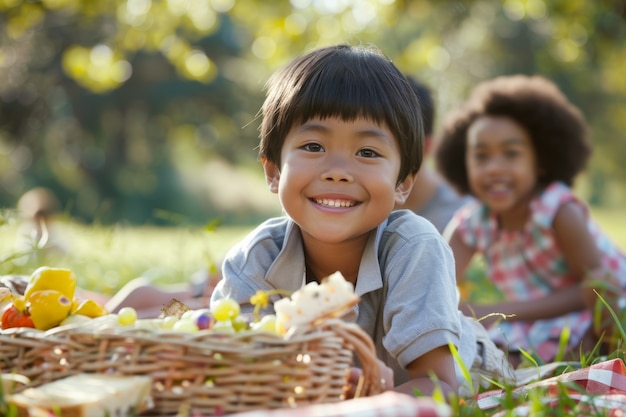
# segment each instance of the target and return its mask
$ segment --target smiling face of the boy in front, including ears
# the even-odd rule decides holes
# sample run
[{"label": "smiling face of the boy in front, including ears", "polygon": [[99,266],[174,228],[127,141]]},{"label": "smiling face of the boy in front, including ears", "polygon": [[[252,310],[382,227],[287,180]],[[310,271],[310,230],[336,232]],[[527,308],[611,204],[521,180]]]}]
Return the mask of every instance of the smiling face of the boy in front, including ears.
[{"label": "smiling face of the boy in front, including ears", "polygon": [[396,185],[400,150],[385,126],[368,119],[311,119],[294,126],[281,166],[263,161],[272,192],[313,239],[339,243],[363,237],[402,204],[413,176]]}]

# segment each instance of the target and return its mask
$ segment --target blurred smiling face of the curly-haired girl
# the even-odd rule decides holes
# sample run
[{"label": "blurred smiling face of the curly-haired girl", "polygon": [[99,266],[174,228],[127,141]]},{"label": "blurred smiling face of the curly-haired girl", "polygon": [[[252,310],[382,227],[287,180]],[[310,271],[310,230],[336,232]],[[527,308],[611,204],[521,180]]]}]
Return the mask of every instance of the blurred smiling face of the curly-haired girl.
[{"label": "blurred smiling face of the curly-haired girl", "polygon": [[538,178],[526,130],[508,117],[480,117],[468,129],[465,162],[472,193],[503,223],[523,224]]}]

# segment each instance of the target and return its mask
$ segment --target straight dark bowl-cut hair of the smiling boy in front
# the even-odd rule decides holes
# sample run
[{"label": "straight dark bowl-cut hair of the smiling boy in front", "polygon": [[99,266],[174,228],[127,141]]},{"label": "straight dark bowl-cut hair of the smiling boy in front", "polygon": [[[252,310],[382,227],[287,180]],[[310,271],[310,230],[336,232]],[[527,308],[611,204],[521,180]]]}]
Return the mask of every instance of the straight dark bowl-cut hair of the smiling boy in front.
[{"label": "straight dark bowl-cut hair of the smiling boy in front", "polygon": [[401,156],[398,183],[422,163],[419,102],[406,77],[374,47],[336,45],[294,59],[266,85],[259,154],[280,165],[292,127],[319,117],[358,117],[385,124]]}]

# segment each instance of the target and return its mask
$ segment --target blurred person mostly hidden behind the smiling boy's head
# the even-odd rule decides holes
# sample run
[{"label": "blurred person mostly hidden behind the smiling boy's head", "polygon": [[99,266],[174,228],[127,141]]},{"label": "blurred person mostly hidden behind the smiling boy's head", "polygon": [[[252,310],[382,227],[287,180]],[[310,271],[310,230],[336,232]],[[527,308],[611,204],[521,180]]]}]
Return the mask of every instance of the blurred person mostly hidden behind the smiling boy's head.
[{"label": "blurred person mostly hidden behind the smiling boy's head", "polygon": [[[424,123],[424,158],[429,158],[434,145],[435,106],[426,85],[414,77],[408,80],[420,102]],[[396,205],[396,209],[412,210],[429,220],[439,232],[443,232],[454,212],[470,201],[472,199],[469,196],[461,196],[431,165],[424,163],[415,175],[411,193],[403,204]]]}]

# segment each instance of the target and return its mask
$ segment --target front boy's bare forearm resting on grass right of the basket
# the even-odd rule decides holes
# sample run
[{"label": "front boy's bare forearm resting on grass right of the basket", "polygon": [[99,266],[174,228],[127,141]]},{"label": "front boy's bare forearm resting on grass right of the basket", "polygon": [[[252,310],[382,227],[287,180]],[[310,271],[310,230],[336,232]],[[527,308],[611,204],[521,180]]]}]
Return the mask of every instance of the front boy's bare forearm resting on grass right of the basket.
[{"label": "front boy's bare forearm resting on grass right of the basket", "polygon": [[407,366],[411,379],[395,391],[413,396],[434,393],[439,387],[446,398],[457,392],[454,358],[448,346],[440,346],[415,359]]}]

